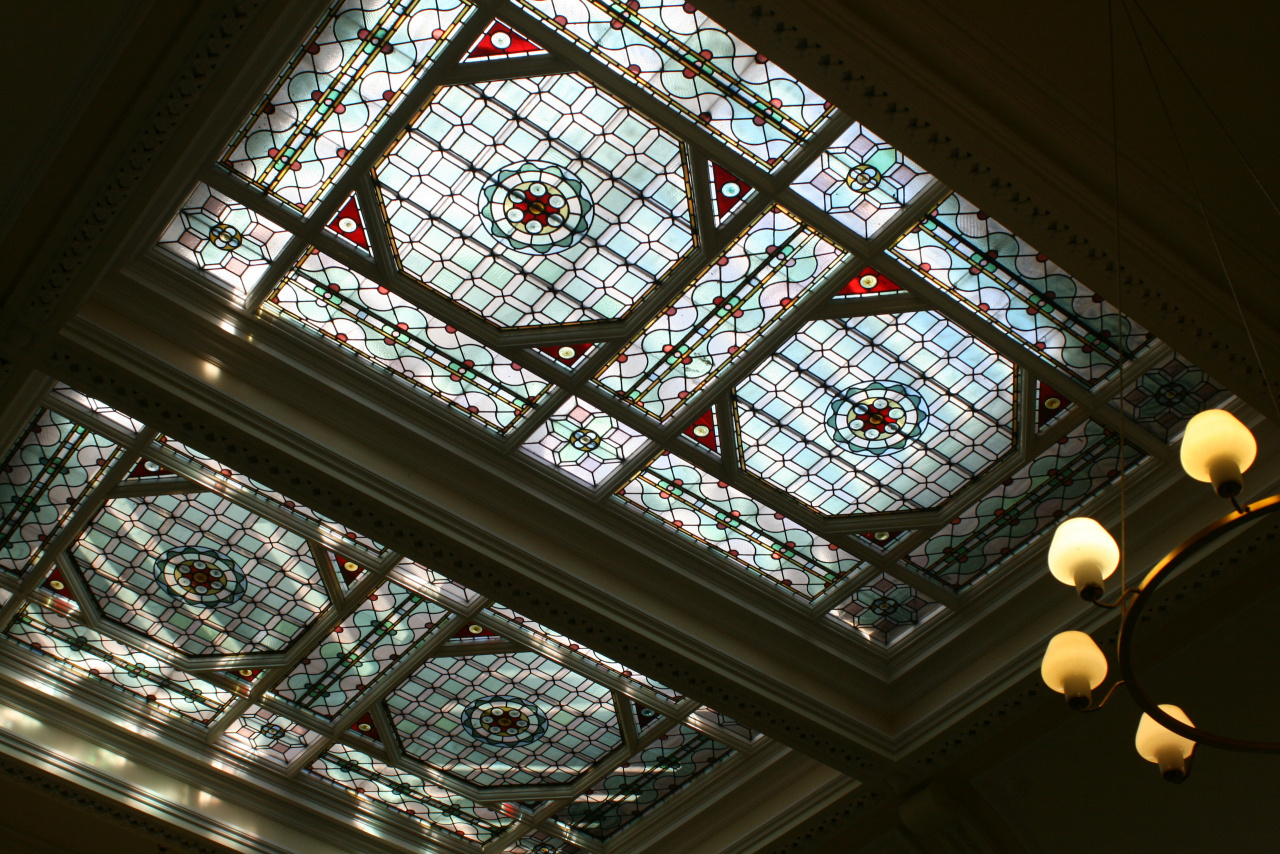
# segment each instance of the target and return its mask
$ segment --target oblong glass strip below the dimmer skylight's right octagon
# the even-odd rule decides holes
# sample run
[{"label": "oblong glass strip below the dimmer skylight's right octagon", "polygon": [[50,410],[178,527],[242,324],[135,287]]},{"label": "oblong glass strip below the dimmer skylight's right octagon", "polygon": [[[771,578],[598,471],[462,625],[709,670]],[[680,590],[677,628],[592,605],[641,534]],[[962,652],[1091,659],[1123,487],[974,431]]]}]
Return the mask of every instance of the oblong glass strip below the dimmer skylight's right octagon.
[{"label": "oblong glass strip below the dimmer skylight's right octagon", "polygon": [[489,841],[515,821],[493,807],[472,803],[344,744],[333,745],[308,771],[361,798],[475,842]]}]

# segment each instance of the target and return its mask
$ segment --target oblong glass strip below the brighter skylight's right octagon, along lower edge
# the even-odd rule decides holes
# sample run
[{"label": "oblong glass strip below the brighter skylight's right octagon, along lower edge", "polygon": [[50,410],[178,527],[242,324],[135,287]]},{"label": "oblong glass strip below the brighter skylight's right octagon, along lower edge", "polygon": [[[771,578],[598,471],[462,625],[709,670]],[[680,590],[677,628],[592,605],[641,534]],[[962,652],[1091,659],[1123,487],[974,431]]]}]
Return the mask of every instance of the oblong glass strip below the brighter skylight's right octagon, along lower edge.
[{"label": "oblong glass strip below the brighter skylight's right octagon, along lower edge", "polygon": [[675,455],[659,456],[618,497],[806,598],[820,595],[861,565]]}]

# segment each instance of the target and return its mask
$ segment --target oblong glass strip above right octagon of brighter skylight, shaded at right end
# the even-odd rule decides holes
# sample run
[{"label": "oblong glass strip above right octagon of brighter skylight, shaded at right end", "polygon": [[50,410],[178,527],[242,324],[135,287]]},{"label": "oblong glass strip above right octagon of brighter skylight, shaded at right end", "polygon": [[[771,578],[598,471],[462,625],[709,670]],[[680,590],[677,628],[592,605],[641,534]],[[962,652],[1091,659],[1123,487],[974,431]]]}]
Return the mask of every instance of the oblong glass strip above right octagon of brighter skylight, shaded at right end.
[{"label": "oblong glass strip above right octagon of brighter skylight, shaded at right end", "polygon": [[960,196],[938,204],[893,254],[1038,356],[1093,385],[1151,335]]}]

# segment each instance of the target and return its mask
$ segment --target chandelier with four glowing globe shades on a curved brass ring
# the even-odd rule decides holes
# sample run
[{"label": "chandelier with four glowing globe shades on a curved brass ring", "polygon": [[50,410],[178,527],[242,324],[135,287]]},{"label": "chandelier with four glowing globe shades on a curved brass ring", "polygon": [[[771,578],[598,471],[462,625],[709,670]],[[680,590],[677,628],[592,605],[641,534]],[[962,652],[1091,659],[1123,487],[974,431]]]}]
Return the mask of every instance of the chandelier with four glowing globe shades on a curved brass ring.
[{"label": "chandelier with four glowing globe shades on a curved brass ring", "polygon": [[1187,778],[1198,744],[1249,753],[1280,753],[1277,743],[1245,741],[1196,729],[1179,707],[1157,705],[1138,682],[1132,661],[1138,618],[1160,584],[1211,543],[1280,510],[1280,495],[1251,504],[1239,503],[1244,472],[1253,465],[1257,453],[1253,434],[1225,410],[1207,410],[1187,424],[1180,453],[1183,469],[1196,480],[1212,484],[1213,490],[1229,499],[1235,510],[1171,551],[1140,584],[1125,586],[1111,602],[1103,600],[1106,580],[1116,571],[1121,554],[1102,525],[1083,516],[1064,520],[1053,531],[1048,549],[1048,568],[1055,579],[1075,586],[1085,602],[1120,612],[1116,662],[1121,679],[1094,703],[1094,691],[1107,679],[1107,657],[1085,632],[1064,631],[1055,635],[1044,650],[1041,663],[1044,684],[1062,694],[1066,704],[1078,712],[1102,708],[1115,689],[1124,685],[1143,711],[1134,746],[1143,759],[1158,764],[1161,775],[1170,782]]}]

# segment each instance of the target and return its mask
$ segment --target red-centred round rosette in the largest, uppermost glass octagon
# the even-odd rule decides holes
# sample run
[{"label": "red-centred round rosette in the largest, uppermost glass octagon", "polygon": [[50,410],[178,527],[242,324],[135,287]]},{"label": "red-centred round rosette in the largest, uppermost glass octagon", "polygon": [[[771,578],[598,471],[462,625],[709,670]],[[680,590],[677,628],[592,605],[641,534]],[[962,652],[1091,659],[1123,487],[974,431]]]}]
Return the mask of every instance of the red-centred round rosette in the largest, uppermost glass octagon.
[{"label": "red-centred round rosette in the largest, uppermost glass octagon", "polygon": [[552,163],[527,160],[499,169],[480,192],[489,233],[517,252],[563,252],[591,227],[586,186]]}]

